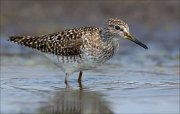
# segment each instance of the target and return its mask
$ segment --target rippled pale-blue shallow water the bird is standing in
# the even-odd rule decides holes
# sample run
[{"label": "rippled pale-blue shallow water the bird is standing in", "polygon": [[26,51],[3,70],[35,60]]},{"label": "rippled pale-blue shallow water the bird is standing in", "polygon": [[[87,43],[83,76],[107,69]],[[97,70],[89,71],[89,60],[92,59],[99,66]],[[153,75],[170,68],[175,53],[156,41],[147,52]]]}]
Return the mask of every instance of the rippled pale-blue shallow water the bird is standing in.
[{"label": "rippled pale-blue shallow water the bird is standing in", "polygon": [[1,113],[178,113],[178,62],[178,49],[120,51],[67,88],[43,56],[1,56]]}]

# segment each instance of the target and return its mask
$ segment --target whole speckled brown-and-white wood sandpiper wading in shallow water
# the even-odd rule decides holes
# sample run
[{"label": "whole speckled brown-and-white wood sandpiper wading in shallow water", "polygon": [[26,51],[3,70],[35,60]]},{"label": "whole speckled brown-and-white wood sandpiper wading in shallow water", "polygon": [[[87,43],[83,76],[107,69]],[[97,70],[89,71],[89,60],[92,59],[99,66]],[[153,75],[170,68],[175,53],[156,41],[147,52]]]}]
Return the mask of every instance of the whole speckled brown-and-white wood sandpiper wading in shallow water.
[{"label": "whole speckled brown-and-white wood sandpiper wading in shallow water", "polygon": [[36,49],[50,58],[68,77],[79,72],[81,82],[84,70],[93,69],[110,58],[119,48],[120,38],[148,47],[129,33],[129,26],[120,19],[110,18],[104,28],[80,27],[42,36],[10,36],[9,41]]}]

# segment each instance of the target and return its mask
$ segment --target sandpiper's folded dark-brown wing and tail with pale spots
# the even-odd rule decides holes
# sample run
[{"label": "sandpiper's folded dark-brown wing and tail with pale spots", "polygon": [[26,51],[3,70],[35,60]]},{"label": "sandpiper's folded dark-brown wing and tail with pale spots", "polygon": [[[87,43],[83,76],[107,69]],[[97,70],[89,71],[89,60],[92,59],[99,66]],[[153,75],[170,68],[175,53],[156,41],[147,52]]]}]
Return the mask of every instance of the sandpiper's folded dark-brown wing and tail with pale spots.
[{"label": "sandpiper's folded dark-brown wing and tail with pale spots", "polygon": [[77,29],[39,37],[11,36],[9,41],[55,55],[71,56],[81,54],[81,33]]}]

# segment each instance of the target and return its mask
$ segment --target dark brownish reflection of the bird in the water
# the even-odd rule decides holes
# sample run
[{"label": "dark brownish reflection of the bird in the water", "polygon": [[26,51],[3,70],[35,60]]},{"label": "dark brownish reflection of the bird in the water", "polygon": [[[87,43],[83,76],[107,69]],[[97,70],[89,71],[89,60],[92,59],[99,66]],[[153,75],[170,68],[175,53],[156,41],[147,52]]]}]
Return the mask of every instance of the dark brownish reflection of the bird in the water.
[{"label": "dark brownish reflection of the bird in the water", "polygon": [[55,93],[54,97],[39,109],[40,114],[113,114],[103,95],[82,88]]}]

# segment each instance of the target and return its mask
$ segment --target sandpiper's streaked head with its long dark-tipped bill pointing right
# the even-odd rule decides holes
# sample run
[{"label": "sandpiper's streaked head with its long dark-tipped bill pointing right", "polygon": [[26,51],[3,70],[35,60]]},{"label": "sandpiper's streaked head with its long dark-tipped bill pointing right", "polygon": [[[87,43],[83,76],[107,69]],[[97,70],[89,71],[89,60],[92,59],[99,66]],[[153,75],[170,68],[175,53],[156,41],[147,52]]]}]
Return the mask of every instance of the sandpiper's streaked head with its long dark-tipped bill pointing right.
[{"label": "sandpiper's streaked head with its long dark-tipped bill pointing right", "polygon": [[108,30],[115,38],[128,39],[143,47],[144,49],[148,49],[148,47],[145,44],[141,43],[139,40],[137,40],[130,34],[129,26],[120,19],[110,18],[106,22],[106,30]]}]

